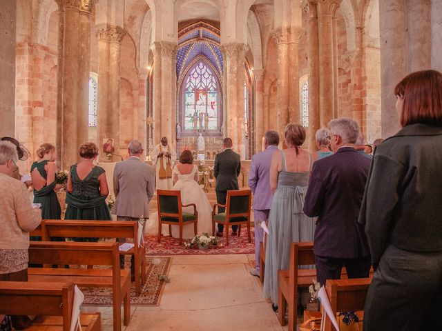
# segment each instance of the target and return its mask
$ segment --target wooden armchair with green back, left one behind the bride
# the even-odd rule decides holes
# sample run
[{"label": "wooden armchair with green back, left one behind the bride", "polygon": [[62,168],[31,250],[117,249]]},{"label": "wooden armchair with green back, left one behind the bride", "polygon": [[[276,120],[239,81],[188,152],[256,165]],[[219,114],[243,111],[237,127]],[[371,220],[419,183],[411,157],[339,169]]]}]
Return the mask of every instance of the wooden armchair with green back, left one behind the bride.
[{"label": "wooden armchair with green back, left one behind the bride", "polygon": [[[195,235],[198,233],[198,211],[195,203],[183,205],[181,191],[157,190],[158,206],[158,242],[161,241],[161,228],[163,224],[169,225],[169,235],[172,236],[172,225],[180,227],[180,245],[182,244],[182,229],[184,225],[193,223]],[[193,206],[193,214],[183,212],[183,207]]]}]

